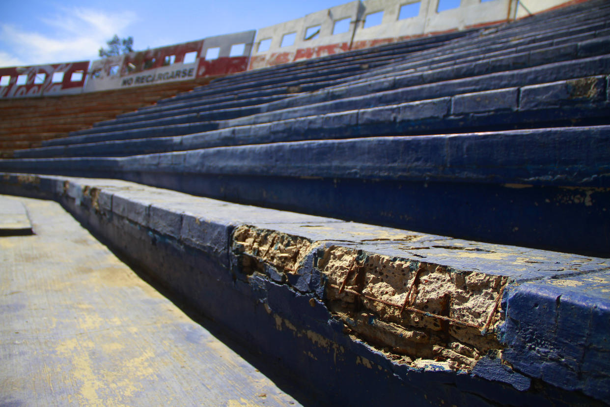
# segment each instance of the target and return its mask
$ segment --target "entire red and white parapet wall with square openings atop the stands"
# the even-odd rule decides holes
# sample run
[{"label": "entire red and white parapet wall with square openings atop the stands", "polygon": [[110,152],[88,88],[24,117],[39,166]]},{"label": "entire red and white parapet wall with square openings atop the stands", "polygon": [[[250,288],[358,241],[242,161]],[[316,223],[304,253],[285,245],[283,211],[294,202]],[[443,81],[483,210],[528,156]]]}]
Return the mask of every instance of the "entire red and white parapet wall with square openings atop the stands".
[{"label": "entire red and white parapet wall with square openings atop the stands", "polygon": [[70,95],[236,73],[509,21],[581,1],[356,0],[258,32],[217,35],[91,63],[0,68],[0,99]]}]

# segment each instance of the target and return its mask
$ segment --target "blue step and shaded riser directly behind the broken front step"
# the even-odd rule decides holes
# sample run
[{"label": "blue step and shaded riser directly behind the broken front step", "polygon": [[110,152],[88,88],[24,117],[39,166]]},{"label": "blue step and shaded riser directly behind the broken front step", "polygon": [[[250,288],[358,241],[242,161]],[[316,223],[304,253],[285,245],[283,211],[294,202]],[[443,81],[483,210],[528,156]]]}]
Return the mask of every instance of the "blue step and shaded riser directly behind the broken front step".
[{"label": "blue step and shaded riser directly behind the broken front step", "polygon": [[467,239],[609,255],[608,126],[1,160]]}]

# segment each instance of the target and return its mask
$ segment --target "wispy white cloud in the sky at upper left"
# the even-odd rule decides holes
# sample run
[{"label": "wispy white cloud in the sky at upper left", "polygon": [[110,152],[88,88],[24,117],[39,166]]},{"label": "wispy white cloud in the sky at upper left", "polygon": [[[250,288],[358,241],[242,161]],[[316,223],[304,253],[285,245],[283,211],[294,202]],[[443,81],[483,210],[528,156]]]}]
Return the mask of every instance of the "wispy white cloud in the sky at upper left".
[{"label": "wispy white cloud in the sky at upper left", "polygon": [[121,34],[136,20],[135,13],[107,13],[93,9],[62,9],[41,21],[52,35],[0,24],[0,66],[41,65],[98,59],[98,49],[114,34]]}]

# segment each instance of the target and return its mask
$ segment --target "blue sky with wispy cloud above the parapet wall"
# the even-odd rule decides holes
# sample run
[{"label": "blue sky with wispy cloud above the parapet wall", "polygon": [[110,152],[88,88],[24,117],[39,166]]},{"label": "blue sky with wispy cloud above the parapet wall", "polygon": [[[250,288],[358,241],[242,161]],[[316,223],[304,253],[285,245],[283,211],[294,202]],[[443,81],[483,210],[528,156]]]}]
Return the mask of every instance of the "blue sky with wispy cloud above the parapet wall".
[{"label": "blue sky with wispy cloud above the parapet wall", "polygon": [[348,0],[30,1],[0,15],[0,67],[98,59],[114,34],[134,49],[271,26]]}]

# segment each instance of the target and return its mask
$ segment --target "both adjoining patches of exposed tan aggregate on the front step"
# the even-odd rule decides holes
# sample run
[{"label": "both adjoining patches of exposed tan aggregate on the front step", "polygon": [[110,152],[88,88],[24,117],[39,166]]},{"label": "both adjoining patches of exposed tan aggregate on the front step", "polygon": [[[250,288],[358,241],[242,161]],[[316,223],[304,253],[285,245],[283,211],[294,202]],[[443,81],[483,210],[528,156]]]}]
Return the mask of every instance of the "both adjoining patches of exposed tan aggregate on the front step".
[{"label": "both adjoining patches of exposed tan aggregate on the front step", "polygon": [[[307,254],[318,247],[320,242],[256,226],[239,226],[233,234],[242,272],[279,282],[298,275]],[[345,333],[395,360],[413,367],[422,360],[447,362],[450,369],[470,370],[489,350],[502,348],[493,329],[481,331],[503,320],[498,303],[506,277],[451,272],[337,245],[317,250],[317,256],[323,300],[345,324]]]}]

